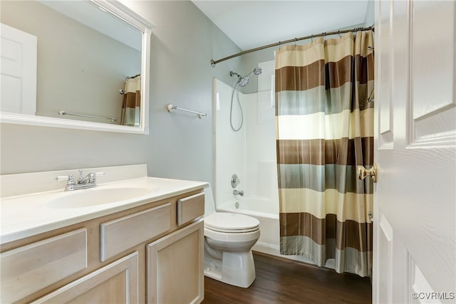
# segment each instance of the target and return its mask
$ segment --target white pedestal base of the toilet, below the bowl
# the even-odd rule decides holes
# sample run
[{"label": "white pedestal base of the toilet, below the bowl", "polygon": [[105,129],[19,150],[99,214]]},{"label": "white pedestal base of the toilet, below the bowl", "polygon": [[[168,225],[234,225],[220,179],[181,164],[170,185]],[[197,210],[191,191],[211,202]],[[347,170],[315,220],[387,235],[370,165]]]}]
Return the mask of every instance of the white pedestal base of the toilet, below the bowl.
[{"label": "white pedestal base of the toilet, below the bowl", "polygon": [[222,260],[204,254],[204,276],[214,280],[248,288],[255,280],[255,263],[252,251],[224,251]]}]

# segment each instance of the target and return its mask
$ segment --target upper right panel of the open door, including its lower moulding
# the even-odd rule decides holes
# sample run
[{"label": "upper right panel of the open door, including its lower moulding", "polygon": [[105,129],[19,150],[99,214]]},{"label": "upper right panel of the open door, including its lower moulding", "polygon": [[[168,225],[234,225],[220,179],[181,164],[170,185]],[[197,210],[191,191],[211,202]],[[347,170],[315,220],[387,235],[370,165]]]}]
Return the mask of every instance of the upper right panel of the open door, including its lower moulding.
[{"label": "upper right panel of the open door, including its lower moulding", "polygon": [[410,144],[454,145],[455,2],[414,1],[410,16]]}]

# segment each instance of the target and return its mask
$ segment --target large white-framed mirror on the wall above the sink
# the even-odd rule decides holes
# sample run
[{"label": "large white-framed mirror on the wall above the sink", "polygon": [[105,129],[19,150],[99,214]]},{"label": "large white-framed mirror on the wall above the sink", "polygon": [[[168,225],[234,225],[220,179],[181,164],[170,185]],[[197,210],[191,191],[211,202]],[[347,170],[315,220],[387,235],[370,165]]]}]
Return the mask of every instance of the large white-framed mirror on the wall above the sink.
[{"label": "large white-framed mirror on the wall above the sink", "polygon": [[[1,122],[148,134],[152,23],[106,0],[3,1],[1,23]],[[36,62],[20,80],[6,70],[19,48],[4,43],[17,30]]]}]

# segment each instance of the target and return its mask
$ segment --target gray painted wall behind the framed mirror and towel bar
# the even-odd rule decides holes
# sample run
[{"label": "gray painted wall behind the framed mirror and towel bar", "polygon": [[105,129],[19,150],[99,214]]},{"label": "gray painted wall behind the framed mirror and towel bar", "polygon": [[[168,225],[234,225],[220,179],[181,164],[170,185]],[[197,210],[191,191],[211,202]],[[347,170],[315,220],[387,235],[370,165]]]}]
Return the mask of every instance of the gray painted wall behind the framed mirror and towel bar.
[{"label": "gray painted wall behind the framed mirror and towel bar", "polygon": [[[190,1],[129,4],[152,29],[150,135],[1,124],[1,174],[147,163],[156,177],[212,182],[212,78],[231,83],[239,48]],[[167,103],[207,112],[169,113]]]}]

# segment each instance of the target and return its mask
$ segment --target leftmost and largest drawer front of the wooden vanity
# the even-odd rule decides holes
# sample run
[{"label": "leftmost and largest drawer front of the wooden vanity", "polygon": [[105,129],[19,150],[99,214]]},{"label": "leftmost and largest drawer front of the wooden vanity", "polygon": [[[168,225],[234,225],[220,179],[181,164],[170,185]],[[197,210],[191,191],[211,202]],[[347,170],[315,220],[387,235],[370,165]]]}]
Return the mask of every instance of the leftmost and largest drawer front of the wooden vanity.
[{"label": "leftmost and largest drawer front of the wooden vanity", "polygon": [[1,303],[12,303],[87,268],[87,230],[0,254]]}]

